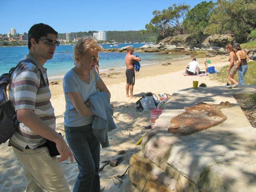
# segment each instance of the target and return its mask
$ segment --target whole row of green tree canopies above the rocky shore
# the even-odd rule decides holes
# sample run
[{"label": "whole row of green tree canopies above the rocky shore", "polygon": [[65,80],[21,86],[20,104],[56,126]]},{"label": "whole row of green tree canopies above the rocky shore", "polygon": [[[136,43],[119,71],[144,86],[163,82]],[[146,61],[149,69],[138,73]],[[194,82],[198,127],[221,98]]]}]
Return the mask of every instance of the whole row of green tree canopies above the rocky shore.
[{"label": "whole row of green tree canopies above the rocky shore", "polygon": [[192,9],[174,4],[155,10],[145,28],[156,32],[158,40],[186,32],[197,43],[212,34],[231,34],[237,42],[246,42],[254,37],[252,31],[256,29],[256,0],[203,1]]}]

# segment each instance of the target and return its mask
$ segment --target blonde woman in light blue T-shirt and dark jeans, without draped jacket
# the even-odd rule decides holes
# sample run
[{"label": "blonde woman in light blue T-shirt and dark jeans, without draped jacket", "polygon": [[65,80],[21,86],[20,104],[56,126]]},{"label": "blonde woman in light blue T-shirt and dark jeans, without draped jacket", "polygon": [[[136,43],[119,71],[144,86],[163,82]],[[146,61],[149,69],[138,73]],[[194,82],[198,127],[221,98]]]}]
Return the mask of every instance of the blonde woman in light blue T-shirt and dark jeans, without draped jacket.
[{"label": "blonde woman in light blue T-shirt and dark jeans, without draped jacket", "polygon": [[95,70],[98,52],[102,50],[95,39],[80,38],[74,46],[75,66],[63,79],[66,139],[79,169],[74,192],[100,192],[100,141],[92,133],[95,117],[88,98],[96,94],[96,86],[110,98],[108,88]]}]

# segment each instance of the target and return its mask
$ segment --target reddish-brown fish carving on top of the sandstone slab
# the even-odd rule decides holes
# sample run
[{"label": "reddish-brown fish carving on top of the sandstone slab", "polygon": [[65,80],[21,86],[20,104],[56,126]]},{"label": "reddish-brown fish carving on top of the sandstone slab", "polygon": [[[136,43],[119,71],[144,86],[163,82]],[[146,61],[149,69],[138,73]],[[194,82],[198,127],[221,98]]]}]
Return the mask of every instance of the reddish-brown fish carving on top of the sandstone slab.
[{"label": "reddish-brown fish carving on top of the sandstone slab", "polygon": [[185,107],[186,112],[172,118],[168,132],[188,135],[216,126],[227,119],[220,109],[232,106],[234,104],[226,101],[221,102],[220,105],[198,102],[196,106]]}]

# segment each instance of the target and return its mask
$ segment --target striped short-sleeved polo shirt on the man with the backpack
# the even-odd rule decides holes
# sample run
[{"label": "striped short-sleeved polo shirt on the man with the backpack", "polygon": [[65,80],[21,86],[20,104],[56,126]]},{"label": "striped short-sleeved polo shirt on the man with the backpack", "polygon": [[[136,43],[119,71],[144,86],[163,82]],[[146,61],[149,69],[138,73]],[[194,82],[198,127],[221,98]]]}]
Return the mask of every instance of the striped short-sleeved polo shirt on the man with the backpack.
[{"label": "striped short-sleeved polo shirt on the man with the backpack", "polygon": [[[48,86],[46,68],[44,68],[30,54],[25,55],[26,59],[34,61],[36,66],[29,62],[22,62],[13,72],[9,83],[9,98],[15,111],[19,109],[31,109],[48,126],[55,130],[56,117],[54,108],[50,102],[51,93]],[[46,86],[40,84],[41,70]],[[36,148],[46,142],[42,136],[34,133],[30,128],[20,122],[18,129],[10,138],[10,144],[19,150],[24,150],[28,145]]]}]

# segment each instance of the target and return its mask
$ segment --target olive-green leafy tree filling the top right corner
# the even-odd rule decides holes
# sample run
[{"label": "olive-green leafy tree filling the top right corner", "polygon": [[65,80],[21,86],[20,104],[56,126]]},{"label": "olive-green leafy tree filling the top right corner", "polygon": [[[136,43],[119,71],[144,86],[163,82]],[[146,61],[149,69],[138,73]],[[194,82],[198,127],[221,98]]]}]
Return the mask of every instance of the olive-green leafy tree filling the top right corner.
[{"label": "olive-green leafy tree filling the top right corner", "polygon": [[207,34],[233,34],[237,42],[246,42],[256,28],[256,0],[218,0],[205,29]]}]

